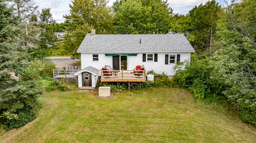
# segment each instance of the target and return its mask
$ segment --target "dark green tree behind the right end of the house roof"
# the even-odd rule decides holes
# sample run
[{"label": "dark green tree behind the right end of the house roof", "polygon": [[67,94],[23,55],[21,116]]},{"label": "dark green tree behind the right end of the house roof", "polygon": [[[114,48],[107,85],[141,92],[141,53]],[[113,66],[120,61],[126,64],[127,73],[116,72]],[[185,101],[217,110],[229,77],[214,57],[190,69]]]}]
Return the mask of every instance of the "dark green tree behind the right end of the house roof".
[{"label": "dark green tree behind the right end of the house roof", "polygon": [[206,52],[211,55],[211,42],[221,13],[221,6],[215,0],[211,0],[195,6],[185,18],[179,18],[178,23],[171,29],[187,35],[196,53]]}]

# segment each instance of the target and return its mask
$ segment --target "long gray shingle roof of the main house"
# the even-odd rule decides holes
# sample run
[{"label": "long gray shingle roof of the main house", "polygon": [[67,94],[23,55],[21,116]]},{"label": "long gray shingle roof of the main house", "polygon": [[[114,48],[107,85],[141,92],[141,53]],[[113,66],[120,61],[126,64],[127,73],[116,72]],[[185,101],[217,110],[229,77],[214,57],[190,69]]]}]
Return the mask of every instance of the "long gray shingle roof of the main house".
[{"label": "long gray shingle roof of the main house", "polygon": [[94,37],[87,34],[77,50],[78,53],[151,51],[195,50],[183,34],[96,34]]}]

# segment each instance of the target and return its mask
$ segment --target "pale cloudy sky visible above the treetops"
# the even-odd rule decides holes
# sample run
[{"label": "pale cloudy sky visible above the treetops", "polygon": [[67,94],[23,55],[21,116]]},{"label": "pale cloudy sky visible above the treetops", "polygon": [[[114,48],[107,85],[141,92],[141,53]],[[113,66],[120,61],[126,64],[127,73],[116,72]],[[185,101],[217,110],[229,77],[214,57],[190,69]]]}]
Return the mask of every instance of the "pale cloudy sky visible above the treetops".
[{"label": "pale cloudy sky visible above the treetops", "polygon": [[[109,0],[107,6],[112,6],[116,0]],[[174,14],[188,14],[194,6],[205,4],[208,0],[168,0],[169,6],[173,9]],[[218,1],[218,0],[217,0]],[[42,8],[51,8],[52,17],[57,23],[64,22],[63,15],[69,14],[69,4],[71,0],[34,0],[38,5],[38,10],[42,12]]]}]

